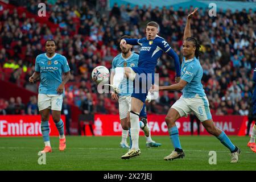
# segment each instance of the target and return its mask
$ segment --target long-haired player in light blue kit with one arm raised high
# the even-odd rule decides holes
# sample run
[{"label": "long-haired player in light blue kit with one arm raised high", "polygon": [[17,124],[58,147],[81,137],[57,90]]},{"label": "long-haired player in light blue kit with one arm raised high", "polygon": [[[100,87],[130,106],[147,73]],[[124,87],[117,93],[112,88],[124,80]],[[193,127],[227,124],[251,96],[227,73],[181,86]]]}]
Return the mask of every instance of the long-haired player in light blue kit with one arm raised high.
[{"label": "long-haired player in light blue kit with one arm raised high", "polygon": [[170,155],[166,156],[164,160],[173,160],[177,158],[183,158],[184,152],[180,145],[179,131],[175,122],[177,119],[193,112],[200,119],[205,129],[212,135],[214,135],[225,147],[231,152],[231,162],[238,162],[238,155],[240,149],[230,141],[224,131],[218,129],[212,120],[210,114],[209,102],[207,96],[204,93],[203,85],[201,84],[201,78],[203,76],[203,69],[199,62],[200,56],[200,44],[195,38],[191,38],[190,22],[193,14],[195,14],[197,8],[193,13],[188,15],[187,23],[184,30],[183,38],[183,63],[181,64],[181,80],[178,84],[170,86],[152,86],[151,91],[157,90],[182,90],[183,95],[179,100],[172,105],[166,116],[166,124],[170,134],[171,142],[174,146],[174,151]]}]

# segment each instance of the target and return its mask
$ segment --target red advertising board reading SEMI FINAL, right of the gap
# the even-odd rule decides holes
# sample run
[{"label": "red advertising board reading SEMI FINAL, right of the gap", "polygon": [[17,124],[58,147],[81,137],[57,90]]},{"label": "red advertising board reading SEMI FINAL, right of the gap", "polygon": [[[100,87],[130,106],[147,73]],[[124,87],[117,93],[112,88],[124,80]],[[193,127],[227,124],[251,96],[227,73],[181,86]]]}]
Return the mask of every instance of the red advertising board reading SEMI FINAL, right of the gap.
[{"label": "red advertising board reading SEMI FINAL, right of the gap", "polygon": [[[166,115],[148,115],[148,125],[150,126],[152,135],[168,135],[167,125],[164,120],[165,117]],[[227,135],[245,135],[247,120],[246,116],[241,115],[213,115],[215,125],[225,131]],[[179,135],[191,135],[189,117],[178,119],[176,125],[179,129]],[[197,131],[196,122],[193,123],[193,129],[195,134]],[[122,127],[119,122],[119,115],[95,114],[93,131],[96,136],[121,136]],[[86,128],[86,133],[90,133],[89,127]],[[140,131],[140,135],[144,135],[142,130]],[[209,135],[203,125],[200,125],[200,135]]]}]

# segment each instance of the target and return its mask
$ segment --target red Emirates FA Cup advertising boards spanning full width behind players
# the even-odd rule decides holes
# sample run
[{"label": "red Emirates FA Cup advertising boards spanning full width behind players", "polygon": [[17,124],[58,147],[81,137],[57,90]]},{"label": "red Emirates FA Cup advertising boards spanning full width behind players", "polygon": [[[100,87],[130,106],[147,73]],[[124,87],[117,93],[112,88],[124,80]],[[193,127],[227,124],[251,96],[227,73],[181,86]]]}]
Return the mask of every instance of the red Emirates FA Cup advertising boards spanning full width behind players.
[{"label": "red Emirates FA Cup advertising boards spanning full width behind players", "polygon": [[[148,125],[152,135],[168,135],[165,115],[148,115]],[[65,124],[65,116],[61,115]],[[214,123],[227,135],[244,136],[247,129],[247,117],[240,115],[217,116],[213,115]],[[49,119],[50,135],[58,136],[52,117]],[[190,135],[189,117],[183,117],[176,122],[179,128],[179,135]],[[253,123],[251,123],[253,125]],[[194,133],[197,131],[196,122],[193,123]],[[252,127],[251,127],[252,128]],[[85,127],[86,135],[92,135],[89,126]],[[119,115],[95,114],[93,132],[96,136],[121,136],[122,127],[119,122]],[[1,115],[0,116],[0,137],[22,137],[41,136],[40,115]],[[141,130],[140,135],[144,135]],[[200,135],[209,135],[200,125]]]}]

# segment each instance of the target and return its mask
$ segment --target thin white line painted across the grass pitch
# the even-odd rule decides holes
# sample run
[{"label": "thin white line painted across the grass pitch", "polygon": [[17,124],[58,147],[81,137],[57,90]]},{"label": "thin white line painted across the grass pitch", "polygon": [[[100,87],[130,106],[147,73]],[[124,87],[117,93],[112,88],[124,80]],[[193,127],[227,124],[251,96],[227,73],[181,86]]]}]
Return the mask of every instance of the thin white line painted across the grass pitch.
[{"label": "thin white line painted across the grass pitch", "polygon": [[[38,148],[38,147],[0,147],[0,149],[25,149],[25,148],[30,148],[30,149],[34,149],[34,148]],[[57,149],[57,147],[52,147],[53,149]],[[79,148],[70,148],[71,150],[74,149],[74,150],[122,150],[122,148],[82,148],[82,147],[79,147]],[[147,149],[146,149],[147,150]],[[170,149],[162,149],[162,148],[156,148],[157,151],[171,151]],[[184,150],[184,152],[209,152],[208,150]],[[222,153],[229,153],[229,151],[216,151],[216,152],[222,152]],[[252,153],[252,152],[248,152],[248,151],[245,151],[242,153]]]}]

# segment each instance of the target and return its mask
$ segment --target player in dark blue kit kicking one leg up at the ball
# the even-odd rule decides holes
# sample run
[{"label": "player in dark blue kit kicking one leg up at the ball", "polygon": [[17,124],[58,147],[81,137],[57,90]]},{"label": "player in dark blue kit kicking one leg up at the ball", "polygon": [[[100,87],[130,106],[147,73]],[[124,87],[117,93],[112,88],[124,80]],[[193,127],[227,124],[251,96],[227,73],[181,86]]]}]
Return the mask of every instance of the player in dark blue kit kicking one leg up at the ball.
[{"label": "player in dark blue kit kicking one leg up at the ball", "polygon": [[[180,79],[180,61],[177,54],[169,46],[169,44],[160,36],[158,36],[158,23],[149,22],[146,26],[146,38],[142,39],[122,39],[120,42],[121,47],[125,47],[126,44],[139,45],[141,46],[141,52],[139,53],[138,67],[117,67],[115,68],[115,75],[113,78],[112,88],[115,92],[120,92],[118,89],[121,81],[124,77],[129,78],[134,81],[134,91],[131,94],[131,111],[130,111],[130,123],[131,123],[131,140],[132,146],[122,159],[130,159],[134,156],[141,154],[139,149],[139,113],[141,113],[142,107],[147,97],[147,92],[150,89],[151,84],[154,83],[154,73],[156,63],[166,52],[168,55],[174,58],[175,68],[176,68],[176,78],[175,81],[178,82]],[[146,78],[146,80],[140,80],[140,78]],[[135,77],[137,77],[135,79]],[[148,79],[149,78],[149,79]],[[139,85],[142,86],[146,82],[146,86],[138,86],[137,80],[139,80]],[[138,92],[139,91],[139,92]]]}]

